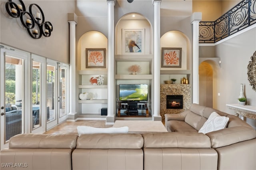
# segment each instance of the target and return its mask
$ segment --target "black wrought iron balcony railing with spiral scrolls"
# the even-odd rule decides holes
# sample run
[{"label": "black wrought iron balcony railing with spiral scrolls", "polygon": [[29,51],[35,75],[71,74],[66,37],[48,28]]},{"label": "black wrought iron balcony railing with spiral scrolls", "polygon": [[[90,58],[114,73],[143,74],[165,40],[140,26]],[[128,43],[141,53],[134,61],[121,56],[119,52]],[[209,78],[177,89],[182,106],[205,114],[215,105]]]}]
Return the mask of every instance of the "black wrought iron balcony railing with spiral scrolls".
[{"label": "black wrought iron balcony railing with spiral scrolls", "polygon": [[256,0],[242,0],[213,22],[199,23],[199,43],[218,42],[256,23]]}]

